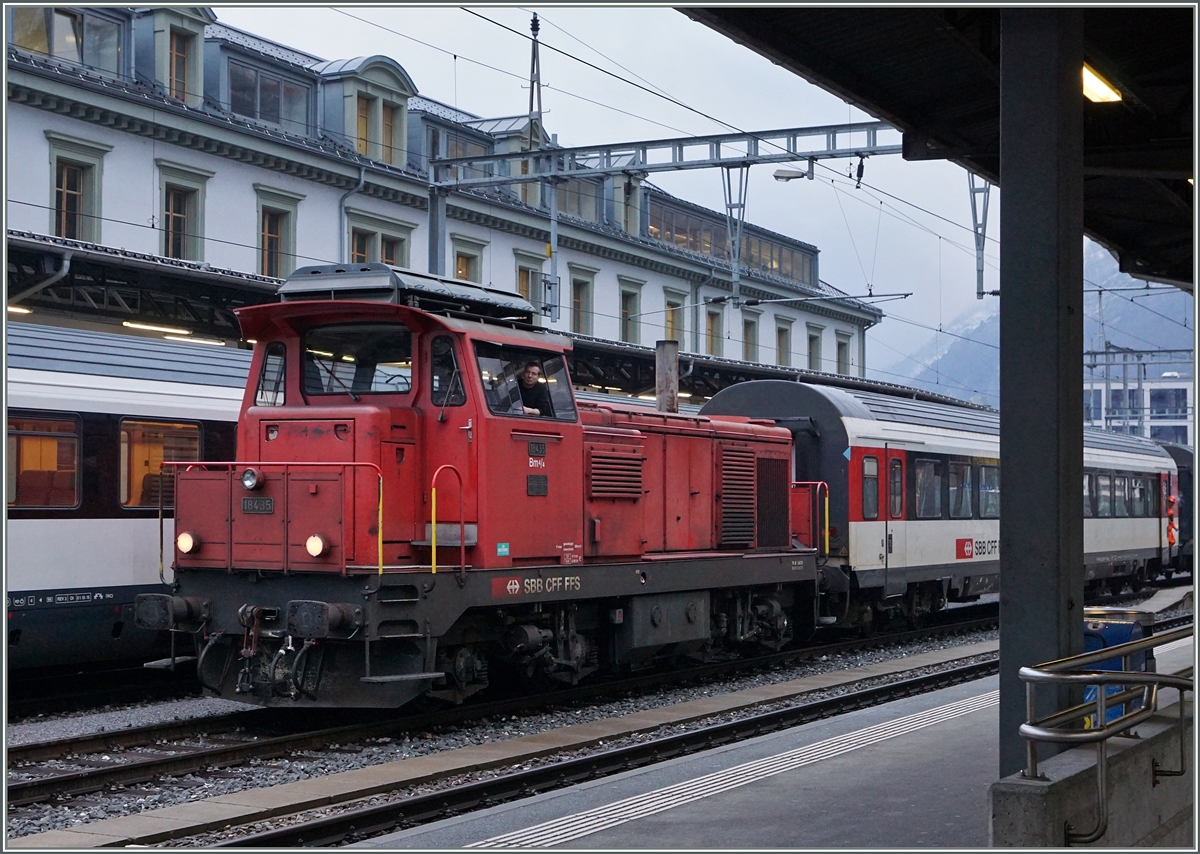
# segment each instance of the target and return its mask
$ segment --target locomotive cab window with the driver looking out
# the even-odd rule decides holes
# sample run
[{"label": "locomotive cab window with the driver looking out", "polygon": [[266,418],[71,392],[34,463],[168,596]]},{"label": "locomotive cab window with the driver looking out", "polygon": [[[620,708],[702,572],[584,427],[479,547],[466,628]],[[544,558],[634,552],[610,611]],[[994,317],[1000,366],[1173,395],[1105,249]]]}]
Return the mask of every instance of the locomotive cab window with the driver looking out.
[{"label": "locomotive cab window with the driver looking out", "polygon": [[575,398],[560,353],[476,342],[487,408],[497,415],[575,421]]}]

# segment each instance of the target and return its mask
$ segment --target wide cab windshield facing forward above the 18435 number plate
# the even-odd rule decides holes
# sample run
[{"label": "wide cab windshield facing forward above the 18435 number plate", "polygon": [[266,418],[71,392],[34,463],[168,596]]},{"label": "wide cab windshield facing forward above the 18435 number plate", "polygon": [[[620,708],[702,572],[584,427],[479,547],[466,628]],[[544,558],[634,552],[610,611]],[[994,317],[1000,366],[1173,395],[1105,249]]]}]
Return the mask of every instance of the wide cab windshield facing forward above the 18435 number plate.
[{"label": "wide cab windshield facing forward above the 18435 number plate", "polygon": [[400,324],[310,329],[304,336],[306,395],[407,393],[413,386],[413,335]]}]

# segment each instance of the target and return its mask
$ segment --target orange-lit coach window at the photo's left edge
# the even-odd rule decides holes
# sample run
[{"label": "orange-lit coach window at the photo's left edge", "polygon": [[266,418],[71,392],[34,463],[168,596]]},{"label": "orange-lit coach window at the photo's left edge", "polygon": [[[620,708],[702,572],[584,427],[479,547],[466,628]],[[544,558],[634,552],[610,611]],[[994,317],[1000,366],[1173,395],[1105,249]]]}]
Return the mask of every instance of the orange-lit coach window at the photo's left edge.
[{"label": "orange-lit coach window at the photo's left edge", "polygon": [[8,416],[10,507],[73,507],[79,428],[74,419]]}]

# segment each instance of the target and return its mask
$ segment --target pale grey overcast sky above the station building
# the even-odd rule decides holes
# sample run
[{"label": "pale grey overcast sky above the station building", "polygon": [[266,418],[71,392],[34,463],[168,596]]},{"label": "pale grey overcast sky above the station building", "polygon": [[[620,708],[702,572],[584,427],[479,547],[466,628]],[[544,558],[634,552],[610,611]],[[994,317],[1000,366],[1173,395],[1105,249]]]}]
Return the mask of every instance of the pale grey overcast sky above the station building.
[{"label": "pale grey overcast sky above the station building", "polygon": [[[522,34],[528,34],[529,12],[536,10],[542,19],[544,46],[553,46],[625,78],[640,77],[642,85],[665,90],[677,101],[743,131],[870,119],[672,8],[473,8]],[[391,56],[404,66],[421,95],[479,115],[515,115],[528,109],[528,40],[460,7],[360,6],[340,12],[328,6],[218,6],[215,11],[222,23],[324,59]],[[443,50],[457,54],[458,59]],[[562,145],[728,131],[546,47],[541,50],[541,77],[546,128],[558,134]],[[856,191],[847,170],[857,161],[823,163],[829,168],[818,166],[817,180],[812,182],[774,181],[773,166],[751,169],[746,218],[816,245],[821,249],[821,277],[847,293],[865,293],[868,282],[877,293],[913,291],[902,302],[882,305],[892,317],[868,333],[868,366],[889,368],[900,353],[911,353],[932,335],[900,318],[937,326],[940,321],[949,324],[965,311],[983,307],[974,296],[967,174],[949,163],[906,163],[899,156],[876,157],[866,162],[864,187]],[[724,208],[719,170],[656,174],[652,180],[682,198],[718,210]],[[917,208],[875,193],[868,185]],[[994,190],[989,211],[991,237],[998,228],[998,191]],[[988,242],[985,287],[995,289],[997,243]],[[985,305],[994,302],[995,297],[988,297]],[[920,368],[907,361],[895,369],[914,374]]]}]

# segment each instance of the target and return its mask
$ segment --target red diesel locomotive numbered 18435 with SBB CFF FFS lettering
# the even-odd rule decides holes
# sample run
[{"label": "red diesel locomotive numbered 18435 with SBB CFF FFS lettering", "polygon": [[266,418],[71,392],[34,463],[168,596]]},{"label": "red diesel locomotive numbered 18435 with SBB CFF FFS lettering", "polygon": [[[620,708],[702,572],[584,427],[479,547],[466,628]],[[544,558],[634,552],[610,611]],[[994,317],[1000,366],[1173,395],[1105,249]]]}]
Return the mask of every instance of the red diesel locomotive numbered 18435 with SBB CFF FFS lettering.
[{"label": "red diesel locomotive numbered 18435 with SBB CFF FFS lettering", "polygon": [[281,296],[239,312],[238,461],[178,468],[173,590],[137,603],[214,692],[460,700],[815,630],[787,429],[576,402],[511,294],[361,265]]}]

